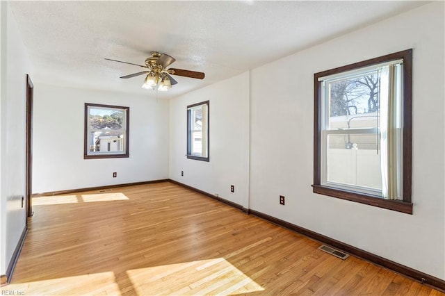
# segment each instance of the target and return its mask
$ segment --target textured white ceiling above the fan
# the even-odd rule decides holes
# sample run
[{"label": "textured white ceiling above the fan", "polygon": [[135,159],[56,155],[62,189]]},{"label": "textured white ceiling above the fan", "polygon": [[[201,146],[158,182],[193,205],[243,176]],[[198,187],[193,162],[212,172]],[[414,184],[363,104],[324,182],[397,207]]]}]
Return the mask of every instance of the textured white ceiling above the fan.
[{"label": "textured white ceiling above the fan", "polygon": [[150,51],[205,72],[159,97],[202,88],[426,1],[12,1],[34,82],[138,92]]}]

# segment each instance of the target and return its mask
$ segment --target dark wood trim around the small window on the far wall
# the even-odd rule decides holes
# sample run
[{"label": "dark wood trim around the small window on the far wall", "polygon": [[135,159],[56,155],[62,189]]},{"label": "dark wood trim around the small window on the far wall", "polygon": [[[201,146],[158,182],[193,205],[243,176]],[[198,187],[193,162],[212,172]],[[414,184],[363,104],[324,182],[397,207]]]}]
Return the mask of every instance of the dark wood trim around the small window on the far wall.
[{"label": "dark wood trim around the small window on the far wall", "polygon": [[[113,108],[113,109],[122,109],[126,110],[125,116],[125,153],[124,154],[97,154],[97,155],[88,155],[88,107],[101,107],[101,108]],[[129,128],[130,126],[130,107],[122,107],[122,106],[112,106],[112,105],[103,105],[103,104],[91,104],[85,103],[85,126],[84,126],[84,140],[83,140],[83,159],[97,159],[97,158],[129,158]]]}]

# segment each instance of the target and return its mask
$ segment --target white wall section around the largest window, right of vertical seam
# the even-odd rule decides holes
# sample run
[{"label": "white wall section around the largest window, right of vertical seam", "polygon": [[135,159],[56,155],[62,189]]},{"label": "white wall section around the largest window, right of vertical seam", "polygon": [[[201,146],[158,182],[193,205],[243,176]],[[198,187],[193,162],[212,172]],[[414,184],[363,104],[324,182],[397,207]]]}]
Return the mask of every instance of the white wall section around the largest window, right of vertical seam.
[{"label": "white wall section around the largest window, right of vertical seam", "polygon": [[[410,48],[414,214],[312,193],[314,73]],[[253,69],[250,208],[445,279],[444,79],[443,1]]]}]

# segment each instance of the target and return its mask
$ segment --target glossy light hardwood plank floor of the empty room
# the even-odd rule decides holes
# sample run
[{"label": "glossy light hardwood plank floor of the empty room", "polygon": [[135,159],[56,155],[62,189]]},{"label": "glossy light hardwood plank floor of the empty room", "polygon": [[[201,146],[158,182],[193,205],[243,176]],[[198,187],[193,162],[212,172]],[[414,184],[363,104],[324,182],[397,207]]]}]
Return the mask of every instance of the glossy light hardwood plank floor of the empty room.
[{"label": "glossy light hardwood plank floor of the empty room", "polygon": [[33,203],[2,295],[444,295],[174,183]]}]

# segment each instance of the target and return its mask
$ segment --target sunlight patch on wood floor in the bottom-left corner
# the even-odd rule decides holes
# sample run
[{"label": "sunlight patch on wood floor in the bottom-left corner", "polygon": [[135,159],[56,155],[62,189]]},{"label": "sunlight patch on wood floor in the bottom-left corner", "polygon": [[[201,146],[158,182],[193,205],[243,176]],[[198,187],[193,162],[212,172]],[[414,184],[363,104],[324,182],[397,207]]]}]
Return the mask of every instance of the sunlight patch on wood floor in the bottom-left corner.
[{"label": "sunlight patch on wood floor in the bottom-left corner", "polygon": [[[14,294],[12,294],[14,293]],[[121,295],[114,272],[60,277],[1,287],[1,295]]]}]

